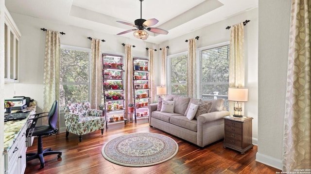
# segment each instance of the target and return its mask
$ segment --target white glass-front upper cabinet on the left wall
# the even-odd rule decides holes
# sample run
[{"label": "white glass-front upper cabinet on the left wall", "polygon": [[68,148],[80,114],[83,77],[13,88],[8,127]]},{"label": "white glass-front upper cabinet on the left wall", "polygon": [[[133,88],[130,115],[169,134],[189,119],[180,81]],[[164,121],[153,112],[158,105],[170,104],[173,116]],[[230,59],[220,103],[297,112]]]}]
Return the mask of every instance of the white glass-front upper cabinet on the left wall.
[{"label": "white glass-front upper cabinet on the left wall", "polygon": [[19,38],[18,30],[11,14],[5,8],[4,20],[4,81],[18,82],[19,80]]}]

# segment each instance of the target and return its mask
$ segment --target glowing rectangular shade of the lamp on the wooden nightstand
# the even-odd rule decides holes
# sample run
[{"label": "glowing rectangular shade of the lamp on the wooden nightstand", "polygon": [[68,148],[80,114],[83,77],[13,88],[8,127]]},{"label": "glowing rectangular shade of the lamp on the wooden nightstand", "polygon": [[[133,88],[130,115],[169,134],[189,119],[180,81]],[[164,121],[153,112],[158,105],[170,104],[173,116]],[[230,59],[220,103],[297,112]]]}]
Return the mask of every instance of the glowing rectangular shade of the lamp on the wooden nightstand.
[{"label": "glowing rectangular shade of the lamp on the wooden nightstand", "polygon": [[235,102],[248,101],[248,88],[245,87],[229,87],[228,100]]}]

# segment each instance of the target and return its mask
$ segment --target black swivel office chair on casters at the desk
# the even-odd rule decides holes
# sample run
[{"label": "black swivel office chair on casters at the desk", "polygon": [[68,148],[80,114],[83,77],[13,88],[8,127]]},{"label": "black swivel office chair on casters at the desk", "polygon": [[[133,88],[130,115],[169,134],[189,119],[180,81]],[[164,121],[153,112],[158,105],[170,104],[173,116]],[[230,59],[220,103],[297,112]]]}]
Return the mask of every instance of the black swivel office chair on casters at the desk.
[{"label": "black swivel office chair on casters at the desk", "polygon": [[60,158],[62,155],[62,152],[59,151],[52,151],[51,148],[47,148],[43,150],[42,145],[42,136],[57,134],[58,129],[56,128],[57,125],[57,117],[58,117],[58,101],[55,101],[51,107],[49,113],[49,125],[42,125],[42,126],[35,126],[38,118],[42,118],[45,116],[39,116],[44,113],[35,114],[35,118],[31,118],[29,120],[33,120],[32,125],[30,128],[27,129],[26,133],[28,137],[31,136],[37,136],[38,137],[38,150],[37,153],[28,153],[26,154],[26,160],[34,160],[39,159],[40,160],[40,168],[42,169],[44,167],[44,156],[52,155],[52,154],[58,154],[57,157]]}]

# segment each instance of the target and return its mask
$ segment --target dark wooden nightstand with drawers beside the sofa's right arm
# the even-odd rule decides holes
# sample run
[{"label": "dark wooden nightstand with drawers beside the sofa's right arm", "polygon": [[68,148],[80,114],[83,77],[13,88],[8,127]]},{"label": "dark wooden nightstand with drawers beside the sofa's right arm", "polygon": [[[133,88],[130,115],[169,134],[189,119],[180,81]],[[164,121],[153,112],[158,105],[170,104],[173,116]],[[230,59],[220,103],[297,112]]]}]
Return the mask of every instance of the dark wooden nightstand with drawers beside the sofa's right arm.
[{"label": "dark wooden nightstand with drawers beside the sofa's right arm", "polygon": [[225,140],[224,147],[245,154],[247,150],[252,148],[252,117],[243,116],[236,118],[233,116],[225,116]]}]

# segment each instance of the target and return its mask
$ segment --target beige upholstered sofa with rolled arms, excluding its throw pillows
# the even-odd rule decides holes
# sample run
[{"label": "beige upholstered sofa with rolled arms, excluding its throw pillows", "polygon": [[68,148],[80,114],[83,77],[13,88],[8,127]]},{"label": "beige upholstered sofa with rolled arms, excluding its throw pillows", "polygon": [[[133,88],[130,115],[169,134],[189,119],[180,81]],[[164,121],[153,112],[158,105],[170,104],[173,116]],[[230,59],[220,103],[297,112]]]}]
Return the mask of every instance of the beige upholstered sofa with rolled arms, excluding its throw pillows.
[{"label": "beige upholstered sofa with rolled arms, excluding its throw pillows", "polygon": [[175,101],[174,113],[157,111],[157,103],[149,104],[149,125],[168,132],[190,143],[204,147],[224,138],[224,116],[229,112],[223,110],[222,99],[212,100],[209,113],[202,114],[189,120],[187,116],[191,103],[198,104],[201,99],[192,99],[178,95],[166,95],[164,100]]}]

